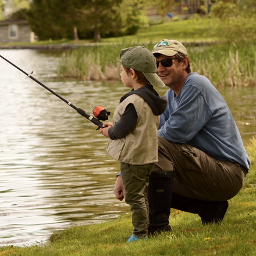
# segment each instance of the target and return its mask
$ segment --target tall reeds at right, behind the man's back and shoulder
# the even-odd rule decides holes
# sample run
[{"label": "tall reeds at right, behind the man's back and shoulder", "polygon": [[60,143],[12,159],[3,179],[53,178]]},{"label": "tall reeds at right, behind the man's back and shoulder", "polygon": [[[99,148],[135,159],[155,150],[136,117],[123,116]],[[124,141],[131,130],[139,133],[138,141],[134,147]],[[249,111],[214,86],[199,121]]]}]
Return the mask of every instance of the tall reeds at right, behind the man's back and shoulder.
[{"label": "tall reeds at right, behind the man's back and shoulder", "polygon": [[242,87],[256,84],[254,45],[194,47],[188,49],[191,69],[206,76],[216,87]]}]

